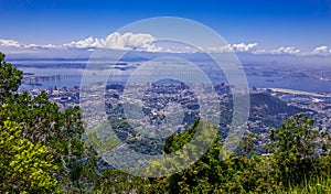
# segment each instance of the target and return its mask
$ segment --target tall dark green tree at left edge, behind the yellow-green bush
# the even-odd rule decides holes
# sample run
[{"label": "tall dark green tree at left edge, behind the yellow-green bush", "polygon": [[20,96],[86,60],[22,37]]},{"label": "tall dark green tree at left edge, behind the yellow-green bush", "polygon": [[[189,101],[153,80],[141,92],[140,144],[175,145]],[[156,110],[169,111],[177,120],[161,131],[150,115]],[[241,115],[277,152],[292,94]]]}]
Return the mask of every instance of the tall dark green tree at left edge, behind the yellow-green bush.
[{"label": "tall dark green tree at left edge, behind the yellow-green bush", "polygon": [[[84,125],[79,107],[61,110],[55,103],[50,101],[45,91],[34,97],[28,91],[19,94],[22,72],[7,63],[2,53],[0,53],[0,105],[6,105],[6,108],[0,109],[0,127],[4,127],[7,122],[15,122],[20,126],[20,134],[17,138],[22,139],[24,143],[20,144],[23,149],[17,150],[15,153],[25,154],[24,149],[28,149],[28,146],[36,150],[35,155],[46,152],[50,157],[47,159],[56,166],[52,169],[50,175],[56,176],[64,187],[67,187],[67,184],[74,185],[73,182],[65,180],[71,176],[75,164],[95,155],[94,150],[87,148],[82,141]],[[0,152],[6,154],[2,149]],[[31,169],[25,171],[26,174],[32,173],[34,166],[29,165],[29,168]],[[84,164],[84,168],[87,166]],[[45,172],[50,171],[45,170]],[[26,186],[26,184],[22,185]]]}]

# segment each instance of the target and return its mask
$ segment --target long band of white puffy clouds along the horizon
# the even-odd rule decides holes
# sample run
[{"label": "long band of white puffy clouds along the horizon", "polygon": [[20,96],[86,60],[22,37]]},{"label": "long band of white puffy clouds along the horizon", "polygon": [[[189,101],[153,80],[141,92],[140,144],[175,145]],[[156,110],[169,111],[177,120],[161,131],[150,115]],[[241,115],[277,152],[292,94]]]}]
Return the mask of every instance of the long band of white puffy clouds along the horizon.
[{"label": "long band of white puffy clouds along the horizon", "polygon": [[105,39],[86,37],[78,41],[73,41],[62,45],[54,44],[22,44],[15,40],[0,39],[0,50],[6,53],[33,53],[42,50],[61,51],[61,50],[84,50],[86,52],[102,50],[124,50],[124,51],[143,51],[143,52],[164,52],[164,53],[252,53],[252,54],[289,54],[289,55],[331,55],[331,50],[327,45],[316,47],[309,53],[302,53],[299,48],[293,46],[280,46],[278,48],[266,51],[258,50],[258,43],[235,43],[224,46],[213,47],[189,47],[189,46],[163,46],[158,45],[158,39],[151,34],[146,33],[124,33],[118,32],[109,34]]}]

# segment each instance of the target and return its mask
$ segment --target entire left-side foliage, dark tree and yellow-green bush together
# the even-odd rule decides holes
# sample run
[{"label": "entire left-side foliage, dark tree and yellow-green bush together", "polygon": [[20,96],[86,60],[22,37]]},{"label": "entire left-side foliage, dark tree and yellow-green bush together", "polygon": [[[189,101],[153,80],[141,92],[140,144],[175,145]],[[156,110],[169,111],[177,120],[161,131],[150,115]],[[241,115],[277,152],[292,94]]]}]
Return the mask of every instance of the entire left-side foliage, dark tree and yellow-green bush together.
[{"label": "entire left-side foliage, dark tree and yellow-green bush together", "polygon": [[[74,162],[95,153],[92,149],[86,148],[81,140],[84,125],[79,107],[61,110],[55,103],[49,100],[45,91],[35,97],[29,95],[28,91],[18,94],[22,72],[4,62],[2,53],[0,53],[0,105],[2,105],[0,108],[0,127],[6,128],[8,122],[15,122],[20,126],[20,132],[14,136],[15,141],[12,142],[15,144],[2,147],[0,150],[3,155],[10,157],[12,154],[12,159],[17,162],[3,163],[4,169],[2,170],[6,171],[6,168],[17,165],[15,168],[12,166],[12,172],[8,173],[18,177],[22,175],[22,172],[26,174],[26,176],[20,176],[21,180],[19,181],[21,182],[19,183],[15,183],[15,179],[8,179],[7,182],[1,181],[1,184],[3,183],[4,187],[9,186],[9,190],[26,190],[28,193],[40,193],[36,185],[41,187],[41,192],[49,191],[50,188],[43,188],[43,184],[47,186],[49,182],[56,183],[56,185],[57,182],[61,182],[63,187],[74,185],[71,181],[64,181],[71,176]],[[10,151],[13,152],[10,153]],[[52,165],[43,161],[50,162]],[[25,168],[24,162],[28,162],[29,168]],[[25,169],[19,168],[21,163],[24,164],[22,166]],[[31,163],[33,166],[30,166]],[[84,165],[84,168],[89,166]],[[20,186],[19,188],[17,188],[17,184]],[[29,191],[29,187],[36,192]]]}]

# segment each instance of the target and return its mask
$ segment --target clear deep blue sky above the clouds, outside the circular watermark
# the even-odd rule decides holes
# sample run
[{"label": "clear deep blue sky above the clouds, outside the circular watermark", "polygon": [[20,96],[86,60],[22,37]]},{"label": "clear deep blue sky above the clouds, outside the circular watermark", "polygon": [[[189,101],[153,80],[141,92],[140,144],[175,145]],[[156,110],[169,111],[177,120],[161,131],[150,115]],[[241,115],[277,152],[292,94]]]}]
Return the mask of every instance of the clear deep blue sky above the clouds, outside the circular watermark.
[{"label": "clear deep blue sky above the clouds, outside the circular watermark", "polygon": [[0,39],[58,45],[164,15],[195,20],[228,43],[259,50],[331,46],[331,0],[0,0]]}]

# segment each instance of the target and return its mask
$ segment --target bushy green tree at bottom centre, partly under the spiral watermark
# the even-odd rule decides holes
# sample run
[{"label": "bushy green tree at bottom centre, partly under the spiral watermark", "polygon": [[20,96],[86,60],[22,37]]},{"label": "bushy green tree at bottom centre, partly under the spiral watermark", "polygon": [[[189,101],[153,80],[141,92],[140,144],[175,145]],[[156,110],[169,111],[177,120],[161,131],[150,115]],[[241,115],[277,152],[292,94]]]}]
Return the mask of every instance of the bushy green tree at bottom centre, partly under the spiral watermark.
[{"label": "bushy green tree at bottom centre, partly under the spiral watermark", "polygon": [[[169,163],[154,161],[151,164],[150,171],[153,173],[178,171],[177,166],[183,165],[184,162],[190,162],[190,158],[195,158],[196,153],[202,152],[201,148],[196,147],[196,143],[185,147],[186,143],[192,141],[194,134],[200,133],[199,138],[211,138],[210,136],[214,131],[216,130],[213,130],[210,123],[197,119],[188,131],[169,136],[166,139],[164,153],[169,154],[181,150],[178,152],[179,157],[171,159],[172,161]],[[166,193],[214,192],[218,183],[222,182],[222,176],[220,176],[222,168],[218,159],[221,151],[218,138],[220,136],[215,136],[207,152],[188,169],[166,177],[149,179],[150,185],[147,186],[147,191],[149,193],[158,193],[160,191]],[[203,139],[200,139],[200,141],[203,141]]]}]

